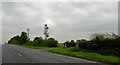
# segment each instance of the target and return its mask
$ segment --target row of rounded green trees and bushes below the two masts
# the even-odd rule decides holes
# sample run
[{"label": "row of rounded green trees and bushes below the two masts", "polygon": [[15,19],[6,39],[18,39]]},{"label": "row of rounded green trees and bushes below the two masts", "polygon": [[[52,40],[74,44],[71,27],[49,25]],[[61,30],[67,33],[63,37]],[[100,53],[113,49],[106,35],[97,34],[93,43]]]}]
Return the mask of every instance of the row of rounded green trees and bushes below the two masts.
[{"label": "row of rounded green trees and bushes below the two masts", "polygon": [[54,38],[49,38],[47,40],[43,40],[42,37],[35,37],[33,41],[28,39],[26,32],[21,32],[21,35],[14,36],[8,41],[8,44],[18,44],[18,45],[26,45],[26,46],[37,46],[37,47],[57,47],[58,41]]}]

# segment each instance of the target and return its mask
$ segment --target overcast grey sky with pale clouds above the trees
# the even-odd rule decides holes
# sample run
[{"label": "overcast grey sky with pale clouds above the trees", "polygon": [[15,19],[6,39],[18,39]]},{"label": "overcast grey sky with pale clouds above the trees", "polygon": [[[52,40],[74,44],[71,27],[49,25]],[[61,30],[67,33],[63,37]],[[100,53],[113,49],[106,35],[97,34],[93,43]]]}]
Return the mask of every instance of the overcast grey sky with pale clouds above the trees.
[{"label": "overcast grey sky with pale clouds above the trees", "polygon": [[59,42],[89,39],[91,33],[118,33],[117,2],[3,2],[2,41],[30,29],[31,40],[43,35]]}]

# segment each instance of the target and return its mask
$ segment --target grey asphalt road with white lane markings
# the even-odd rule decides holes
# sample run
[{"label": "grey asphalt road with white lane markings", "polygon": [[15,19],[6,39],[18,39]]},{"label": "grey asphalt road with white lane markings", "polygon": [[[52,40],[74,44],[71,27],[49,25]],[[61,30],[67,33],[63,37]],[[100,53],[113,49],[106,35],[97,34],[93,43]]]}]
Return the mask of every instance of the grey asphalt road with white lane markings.
[{"label": "grey asphalt road with white lane markings", "polygon": [[96,63],[84,59],[53,54],[47,51],[2,45],[2,63]]}]

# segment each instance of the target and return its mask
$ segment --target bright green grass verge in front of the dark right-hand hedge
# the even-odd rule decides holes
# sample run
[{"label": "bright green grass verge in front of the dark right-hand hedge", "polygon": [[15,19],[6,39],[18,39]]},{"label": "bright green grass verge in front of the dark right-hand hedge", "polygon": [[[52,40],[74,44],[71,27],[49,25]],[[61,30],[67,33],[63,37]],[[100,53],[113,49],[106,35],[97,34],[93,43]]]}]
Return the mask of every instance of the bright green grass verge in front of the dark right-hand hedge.
[{"label": "bright green grass verge in front of the dark right-hand hedge", "polygon": [[111,65],[120,65],[120,57],[116,56],[105,56],[101,54],[97,54],[94,52],[86,52],[86,51],[76,51],[72,52],[69,50],[70,48],[51,48],[48,51],[52,53],[57,53],[57,54],[63,54],[63,55],[68,55],[72,57],[77,57],[77,58],[84,58],[96,62],[102,62],[102,63],[107,63]]}]

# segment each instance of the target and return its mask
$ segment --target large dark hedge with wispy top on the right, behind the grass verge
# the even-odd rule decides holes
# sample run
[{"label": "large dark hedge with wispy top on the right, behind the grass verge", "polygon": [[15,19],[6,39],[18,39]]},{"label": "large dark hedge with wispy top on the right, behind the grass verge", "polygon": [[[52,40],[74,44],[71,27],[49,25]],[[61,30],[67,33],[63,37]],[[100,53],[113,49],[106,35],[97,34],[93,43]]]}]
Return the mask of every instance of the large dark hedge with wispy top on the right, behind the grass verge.
[{"label": "large dark hedge with wispy top on the right, behind the grass verge", "polygon": [[104,55],[120,56],[120,36],[114,33],[96,33],[90,35],[91,40],[77,41],[81,49],[94,51]]}]

